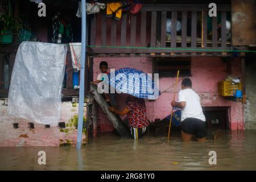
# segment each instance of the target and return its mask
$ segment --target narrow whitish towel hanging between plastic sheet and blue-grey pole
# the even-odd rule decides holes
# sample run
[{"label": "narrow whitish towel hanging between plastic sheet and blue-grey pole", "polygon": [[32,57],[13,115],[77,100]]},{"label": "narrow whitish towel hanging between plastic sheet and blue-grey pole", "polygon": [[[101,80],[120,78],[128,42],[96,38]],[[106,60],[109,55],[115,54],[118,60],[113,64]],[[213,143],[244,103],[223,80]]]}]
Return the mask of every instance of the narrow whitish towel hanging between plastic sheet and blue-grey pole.
[{"label": "narrow whitish towel hanging between plastic sheet and blue-grey pole", "polygon": [[72,58],[72,66],[77,71],[80,71],[80,63],[81,63],[81,43],[69,43],[70,50],[71,50],[71,58]]}]

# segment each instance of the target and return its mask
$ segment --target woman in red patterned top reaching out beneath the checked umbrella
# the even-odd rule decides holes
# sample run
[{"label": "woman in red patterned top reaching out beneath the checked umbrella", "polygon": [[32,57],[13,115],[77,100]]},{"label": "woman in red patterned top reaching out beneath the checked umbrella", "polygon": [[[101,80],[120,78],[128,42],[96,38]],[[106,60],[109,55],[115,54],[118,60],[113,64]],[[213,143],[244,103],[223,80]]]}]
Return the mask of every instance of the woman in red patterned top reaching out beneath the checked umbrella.
[{"label": "woman in red patterned top reaching out beneath the checked umbrella", "polygon": [[150,123],[146,115],[146,105],[143,98],[128,96],[125,109],[119,111],[114,107],[109,107],[109,110],[118,115],[127,114],[128,127],[131,137],[134,139],[141,138]]}]

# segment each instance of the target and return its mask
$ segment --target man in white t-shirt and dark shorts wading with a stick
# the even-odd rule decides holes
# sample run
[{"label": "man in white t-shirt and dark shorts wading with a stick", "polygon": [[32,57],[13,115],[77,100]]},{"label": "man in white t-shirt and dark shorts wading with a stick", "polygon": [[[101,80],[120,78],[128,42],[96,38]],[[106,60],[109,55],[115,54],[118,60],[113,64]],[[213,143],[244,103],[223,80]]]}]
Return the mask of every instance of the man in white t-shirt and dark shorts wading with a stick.
[{"label": "man in white t-shirt and dark shorts wading with a stick", "polygon": [[179,102],[172,101],[172,107],[181,109],[181,134],[184,142],[191,141],[194,134],[199,142],[205,142],[207,134],[205,116],[200,104],[200,97],[192,90],[192,82],[184,78]]}]

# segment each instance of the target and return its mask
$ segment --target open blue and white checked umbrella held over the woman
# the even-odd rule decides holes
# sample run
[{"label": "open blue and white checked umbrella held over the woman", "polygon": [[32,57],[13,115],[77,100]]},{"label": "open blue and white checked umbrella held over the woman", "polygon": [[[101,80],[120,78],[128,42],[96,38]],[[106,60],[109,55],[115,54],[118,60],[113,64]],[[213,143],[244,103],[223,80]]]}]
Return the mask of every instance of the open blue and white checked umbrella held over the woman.
[{"label": "open blue and white checked umbrella held over the woman", "polygon": [[159,97],[158,75],[144,73],[134,68],[122,68],[110,72],[105,83],[115,89],[115,93],[127,93],[138,98],[156,100]]}]

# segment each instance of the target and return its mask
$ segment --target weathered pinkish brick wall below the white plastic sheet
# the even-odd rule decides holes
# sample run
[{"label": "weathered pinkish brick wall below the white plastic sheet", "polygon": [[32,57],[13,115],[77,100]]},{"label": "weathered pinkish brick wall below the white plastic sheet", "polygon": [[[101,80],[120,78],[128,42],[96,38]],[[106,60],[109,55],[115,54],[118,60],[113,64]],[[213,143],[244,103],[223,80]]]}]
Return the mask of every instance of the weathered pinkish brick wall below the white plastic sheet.
[{"label": "weathered pinkish brick wall below the white plastic sheet", "polygon": [[[60,122],[71,125],[71,119],[78,114],[78,108],[78,104],[73,107],[72,102],[63,102]],[[73,125],[61,130],[58,126],[46,128],[34,123],[35,129],[28,129],[27,121],[7,117],[6,109],[7,106],[0,105],[0,147],[76,145],[77,129]],[[19,123],[19,128],[14,129],[13,123]],[[82,141],[83,144],[86,143],[84,133]]]}]

